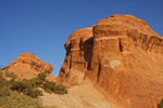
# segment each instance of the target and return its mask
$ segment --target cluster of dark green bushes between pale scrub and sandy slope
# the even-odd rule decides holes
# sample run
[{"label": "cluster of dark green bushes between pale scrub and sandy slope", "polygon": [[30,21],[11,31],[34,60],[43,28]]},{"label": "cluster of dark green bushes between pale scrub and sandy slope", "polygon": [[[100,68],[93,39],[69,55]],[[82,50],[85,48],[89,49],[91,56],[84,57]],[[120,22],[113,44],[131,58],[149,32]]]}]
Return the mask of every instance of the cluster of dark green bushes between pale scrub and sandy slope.
[{"label": "cluster of dark green bushes between pale scrub and sandy slope", "polygon": [[67,90],[64,85],[57,85],[54,82],[46,80],[50,72],[47,70],[45,72],[38,73],[37,78],[23,81],[11,81],[11,90],[21,92],[30,97],[37,98],[42,95],[40,89],[48,93],[55,94],[67,94]]}]

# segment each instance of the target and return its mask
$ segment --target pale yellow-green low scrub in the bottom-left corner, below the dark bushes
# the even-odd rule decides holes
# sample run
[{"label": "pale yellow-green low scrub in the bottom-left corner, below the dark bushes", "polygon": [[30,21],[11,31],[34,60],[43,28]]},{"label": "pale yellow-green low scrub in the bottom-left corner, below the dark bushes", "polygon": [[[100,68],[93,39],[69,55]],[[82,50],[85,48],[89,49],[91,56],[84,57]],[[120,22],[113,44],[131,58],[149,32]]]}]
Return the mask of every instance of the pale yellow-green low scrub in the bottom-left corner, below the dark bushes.
[{"label": "pale yellow-green low scrub in the bottom-left corner, below the dark bushes", "polygon": [[38,98],[32,98],[10,89],[11,82],[0,76],[0,106],[4,108],[43,108]]}]

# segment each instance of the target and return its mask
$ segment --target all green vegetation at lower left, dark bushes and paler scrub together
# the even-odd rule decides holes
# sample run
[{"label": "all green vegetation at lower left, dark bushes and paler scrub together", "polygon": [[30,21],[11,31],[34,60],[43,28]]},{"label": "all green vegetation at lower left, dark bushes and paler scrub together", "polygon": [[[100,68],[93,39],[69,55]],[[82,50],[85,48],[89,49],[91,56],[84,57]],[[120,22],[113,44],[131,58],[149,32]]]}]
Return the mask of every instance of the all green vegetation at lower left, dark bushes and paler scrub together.
[{"label": "all green vegetation at lower left, dark bushes and paler scrub together", "polygon": [[[66,94],[64,85],[57,85],[46,78],[49,71],[39,73],[37,78],[18,81],[16,77],[5,80],[0,73],[0,106],[4,108],[50,108],[43,107],[37,98],[42,95],[42,90],[48,93]],[[51,107],[55,108],[55,107]]]}]

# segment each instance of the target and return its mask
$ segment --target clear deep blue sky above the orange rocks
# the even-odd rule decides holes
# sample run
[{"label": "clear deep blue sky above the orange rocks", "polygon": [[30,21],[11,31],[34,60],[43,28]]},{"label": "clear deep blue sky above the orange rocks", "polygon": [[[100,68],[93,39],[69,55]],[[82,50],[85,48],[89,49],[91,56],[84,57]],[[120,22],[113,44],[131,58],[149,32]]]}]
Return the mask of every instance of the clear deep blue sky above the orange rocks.
[{"label": "clear deep blue sky above the orange rocks", "polygon": [[0,0],[0,66],[29,52],[58,76],[68,36],[113,14],[135,15],[163,36],[163,0]]}]

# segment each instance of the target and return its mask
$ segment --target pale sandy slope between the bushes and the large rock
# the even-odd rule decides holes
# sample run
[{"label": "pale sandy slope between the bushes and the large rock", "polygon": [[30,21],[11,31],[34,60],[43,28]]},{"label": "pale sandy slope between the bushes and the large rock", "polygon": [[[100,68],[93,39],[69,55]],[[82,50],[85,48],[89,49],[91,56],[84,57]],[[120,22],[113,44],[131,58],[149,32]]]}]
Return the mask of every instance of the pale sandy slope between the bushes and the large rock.
[{"label": "pale sandy slope between the bushes and the large rock", "polygon": [[55,108],[117,108],[109,103],[88,79],[80,85],[68,89],[66,95],[43,92],[40,99],[45,106],[55,106]]}]

